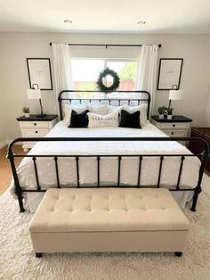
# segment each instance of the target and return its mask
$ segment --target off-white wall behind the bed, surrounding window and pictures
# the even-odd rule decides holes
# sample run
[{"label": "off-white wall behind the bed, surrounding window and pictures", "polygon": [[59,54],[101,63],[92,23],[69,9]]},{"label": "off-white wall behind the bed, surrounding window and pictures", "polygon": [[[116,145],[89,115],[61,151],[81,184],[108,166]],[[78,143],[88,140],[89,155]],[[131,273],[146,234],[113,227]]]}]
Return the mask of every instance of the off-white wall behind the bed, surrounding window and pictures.
[{"label": "off-white wall behind the bed, surrounding window and pictures", "polygon": [[[20,136],[16,118],[21,108],[28,105],[32,112],[39,110],[35,100],[28,100],[27,57],[49,57],[52,62],[50,42],[60,43],[99,43],[99,44],[162,44],[158,51],[159,58],[183,58],[181,88],[184,99],[174,101],[174,113],[184,114],[193,119],[194,126],[206,125],[206,100],[210,88],[210,35],[136,35],[136,34],[80,34],[80,33],[0,33],[1,84],[0,125],[4,119],[4,138]],[[116,49],[117,56],[125,55],[125,49]],[[128,48],[129,56],[136,57],[138,49]],[[72,48],[74,56],[98,56],[99,48]],[[104,56],[109,56],[109,49],[102,49]],[[113,54],[113,50],[112,50]],[[53,77],[52,77],[53,78]],[[168,91],[158,91],[155,110],[168,104]],[[53,92],[43,92],[44,111],[55,112]],[[1,108],[0,108],[1,109]],[[0,131],[1,132],[1,131]],[[0,138],[1,141],[1,138]]]}]

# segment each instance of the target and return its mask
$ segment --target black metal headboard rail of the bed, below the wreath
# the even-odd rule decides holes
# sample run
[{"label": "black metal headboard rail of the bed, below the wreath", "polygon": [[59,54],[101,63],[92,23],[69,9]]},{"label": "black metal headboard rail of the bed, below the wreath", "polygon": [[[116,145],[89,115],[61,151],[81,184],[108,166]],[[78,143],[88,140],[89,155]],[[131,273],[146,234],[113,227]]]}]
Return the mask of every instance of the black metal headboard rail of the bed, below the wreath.
[{"label": "black metal headboard rail of the bed, below the wreath", "polygon": [[[85,94],[85,93],[89,93],[89,94],[106,94],[107,97],[103,98],[103,97],[97,97],[97,98],[76,98],[76,97],[62,97],[63,94],[68,93],[68,94]],[[119,97],[108,97],[108,95],[110,94],[120,94],[122,95],[122,98],[119,99]],[[123,98],[123,96],[125,94],[144,94],[146,95],[146,97],[127,97],[127,98]],[[117,91],[101,91],[101,90],[79,90],[79,89],[75,89],[75,90],[62,90],[61,93],[59,94],[58,97],[58,102],[59,102],[59,110],[60,110],[60,118],[63,119],[63,111],[62,111],[62,102],[63,101],[69,101],[69,103],[72,103],[72,101],[77,101],[79,103],[93,103],[95,101],[98,101],[99,103],[113,103],[113,102],[117,102],[117,105],[121,105],[121,103],[127,102],[128,105],[130,105],[131,102],[136,102],[138,105],[143,102],[143,103],[147,103],[148,104],[148,108],[147,108],[147,118],[149,119],[149,110],[150,110],[150,94],[148,91],[144,91],[144,90],[117,90]]]}]

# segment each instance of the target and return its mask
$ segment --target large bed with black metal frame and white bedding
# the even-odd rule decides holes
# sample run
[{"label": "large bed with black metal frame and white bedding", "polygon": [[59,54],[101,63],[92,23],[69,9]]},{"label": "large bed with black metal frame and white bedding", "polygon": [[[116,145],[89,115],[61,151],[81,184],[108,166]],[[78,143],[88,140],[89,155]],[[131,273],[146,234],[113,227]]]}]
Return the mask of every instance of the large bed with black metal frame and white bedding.
[{"label": "large bed with black metal frame and white bedding", "polygon": [[[59,95],[61,121],[44,138],[18,138],[8,148],[12,164],[15,194],[20,211],[24,211],[23,194],[28,194],[31,210],[36,210],[42,194],[52,187],[166,187],[173,191],[181,207],[192,202],[196,210],[198,194],[204,172],[208,147],[198,138],[184,138],[199,141],[204,146],[202,154],[193,155],[177,140],[169,138],[149,122],[150,96],[136,91],[141,97],[133,98],[133,92],[117,92],[126,98],[100,97],[100,99],[77,99],[68,94],[83,91],[62,91]],[[86,91],[85,91],[86,92]],[[94,93],[93,91],[90,91]],[[102,95],[102,93],[100,93]],[[63,97],[65,95],[65,97]],[[116,93],[115,93],[116,95]],[[68,128],[63,119],[63,103],[112,103],[117,106],[147,105],[145,124],[137,128]],[[86,105],[85,105],[86,106]],[[22,155],[12,152],[13,144],[36,141],[15,168],[14,159]],[[41,194],[41,195],[37,195]]]}]

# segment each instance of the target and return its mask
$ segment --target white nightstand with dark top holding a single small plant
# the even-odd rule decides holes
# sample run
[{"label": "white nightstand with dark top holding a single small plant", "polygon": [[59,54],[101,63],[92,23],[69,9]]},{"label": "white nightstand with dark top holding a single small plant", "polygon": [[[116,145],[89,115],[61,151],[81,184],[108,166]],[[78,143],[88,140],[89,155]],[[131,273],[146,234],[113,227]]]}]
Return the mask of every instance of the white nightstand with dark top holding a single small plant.
[{"label": "white nightstand with dark top holding a single small plant", "polygon": [[[18,118],[22,137],[44,137],[56,124],[58,115],[46,115],[43,118],[30,115],[26,118],[22,116]],[[25,152],[32,148],[34,142],[26,142],[22,145]]]}]

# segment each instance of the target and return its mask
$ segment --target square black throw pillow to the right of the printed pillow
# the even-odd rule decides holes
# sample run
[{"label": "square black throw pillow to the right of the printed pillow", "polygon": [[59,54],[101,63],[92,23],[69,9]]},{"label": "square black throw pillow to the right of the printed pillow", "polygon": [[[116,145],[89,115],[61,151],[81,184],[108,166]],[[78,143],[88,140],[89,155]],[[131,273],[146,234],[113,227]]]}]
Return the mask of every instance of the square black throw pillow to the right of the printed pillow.
[{"label": "square black throw pillow to the right of the printed pillow", "polygon": [[128,111],[121,111],[120,128],[141,128],[140,125],[140,111],[130,113]]}]

